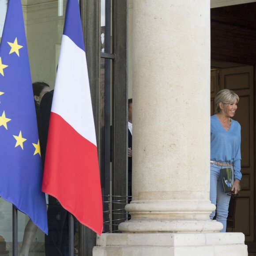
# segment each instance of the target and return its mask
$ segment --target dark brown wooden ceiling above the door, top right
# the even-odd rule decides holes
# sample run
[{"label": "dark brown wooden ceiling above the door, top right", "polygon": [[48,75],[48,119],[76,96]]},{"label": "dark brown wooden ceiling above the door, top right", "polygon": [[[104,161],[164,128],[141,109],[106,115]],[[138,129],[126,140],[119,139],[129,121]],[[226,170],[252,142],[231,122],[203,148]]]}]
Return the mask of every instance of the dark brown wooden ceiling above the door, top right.
[{"label": "dark brown wooden ceiling above the door, top right", "polygon": [[256,64],[256,2],[211,9],[211,58],[216,68]]}]

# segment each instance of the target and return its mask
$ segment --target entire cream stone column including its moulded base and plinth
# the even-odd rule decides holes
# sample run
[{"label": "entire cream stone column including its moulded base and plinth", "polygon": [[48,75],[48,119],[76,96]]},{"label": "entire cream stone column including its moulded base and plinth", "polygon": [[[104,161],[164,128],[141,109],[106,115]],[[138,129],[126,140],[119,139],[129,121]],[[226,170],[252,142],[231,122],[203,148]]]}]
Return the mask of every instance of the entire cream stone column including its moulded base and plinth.
[{"label": "entire cream stone column including its moulded base and plinth", "polygon": [[247,255],[209,215],[210,0],[133,1],[131,220],[94,256]]}]

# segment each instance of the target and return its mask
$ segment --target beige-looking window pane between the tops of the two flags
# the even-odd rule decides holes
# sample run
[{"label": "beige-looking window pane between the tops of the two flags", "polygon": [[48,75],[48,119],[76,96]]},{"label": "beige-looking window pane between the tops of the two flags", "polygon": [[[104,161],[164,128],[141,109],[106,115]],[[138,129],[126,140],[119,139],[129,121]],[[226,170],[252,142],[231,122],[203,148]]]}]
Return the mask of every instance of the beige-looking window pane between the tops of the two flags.
[{"label": "beige-looking window pane between the tops of the two flags", "polygon": [[44,81],[53,89],[64,27],[66,0],[26,5],[26,37],[32,81]]}]

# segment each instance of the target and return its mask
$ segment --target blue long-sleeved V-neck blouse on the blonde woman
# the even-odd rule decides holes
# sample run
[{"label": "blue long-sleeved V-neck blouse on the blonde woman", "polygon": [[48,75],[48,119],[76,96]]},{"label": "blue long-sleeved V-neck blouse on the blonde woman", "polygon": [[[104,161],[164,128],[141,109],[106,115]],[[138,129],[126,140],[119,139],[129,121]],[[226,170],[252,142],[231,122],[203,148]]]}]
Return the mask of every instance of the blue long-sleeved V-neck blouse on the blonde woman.
[{"label": "blue long-sleeved V-neck blouse on the blonde woman", "polygon": [[211,116],[211,160],[233,162],[235,179],[241,180],[241,125],[231,119],[228,131]]}]

